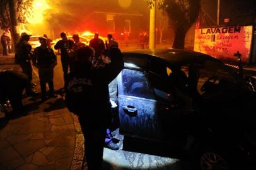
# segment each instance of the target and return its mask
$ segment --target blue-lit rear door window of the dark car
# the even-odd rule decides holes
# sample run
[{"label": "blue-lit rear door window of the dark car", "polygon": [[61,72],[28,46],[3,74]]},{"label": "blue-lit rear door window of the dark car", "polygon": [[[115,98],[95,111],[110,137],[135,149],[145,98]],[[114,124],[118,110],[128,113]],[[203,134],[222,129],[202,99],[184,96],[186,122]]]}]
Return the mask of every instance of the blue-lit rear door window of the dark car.
[{"label": "blue-lit rear door window of the dark car", "polygon": [[122,70],[122,86],[120,87],[119,94],[154,99],[153,90],[149,86],[144,72],[128,69]]}]

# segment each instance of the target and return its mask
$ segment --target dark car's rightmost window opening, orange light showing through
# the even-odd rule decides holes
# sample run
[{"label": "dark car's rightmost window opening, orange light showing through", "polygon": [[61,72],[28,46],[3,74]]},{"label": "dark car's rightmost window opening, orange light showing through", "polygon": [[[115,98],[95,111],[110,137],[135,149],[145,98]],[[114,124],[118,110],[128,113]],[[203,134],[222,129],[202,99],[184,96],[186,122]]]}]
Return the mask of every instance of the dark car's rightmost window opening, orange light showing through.
[{"label": "dark car's rightmost window opening, orange light showing through", "polygon": [[207,89],[214,91],[223,88],[236,88],[237,77],[231,74],[221,62],[214,60],[206,61],[201,69],[199,69],[198,76],[197,91],[199,91],[200,94],[207,91]]}]

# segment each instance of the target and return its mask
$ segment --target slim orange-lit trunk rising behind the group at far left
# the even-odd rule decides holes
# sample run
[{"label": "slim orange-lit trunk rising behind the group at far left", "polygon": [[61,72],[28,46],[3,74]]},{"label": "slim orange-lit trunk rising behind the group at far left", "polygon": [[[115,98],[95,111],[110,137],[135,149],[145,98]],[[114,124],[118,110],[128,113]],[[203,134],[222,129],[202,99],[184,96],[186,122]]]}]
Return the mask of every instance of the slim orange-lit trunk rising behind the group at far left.
[{"label": "slim orange-lit trunk rising behind the group at far left", "polygon": [[18,40],[20,38],[20,35],[18,33],[18,21],[15,0],[9,0],[9,13],[11,18],[11,37],[13,38],[13,46],[15,47],[16,43],[18,43]]}]

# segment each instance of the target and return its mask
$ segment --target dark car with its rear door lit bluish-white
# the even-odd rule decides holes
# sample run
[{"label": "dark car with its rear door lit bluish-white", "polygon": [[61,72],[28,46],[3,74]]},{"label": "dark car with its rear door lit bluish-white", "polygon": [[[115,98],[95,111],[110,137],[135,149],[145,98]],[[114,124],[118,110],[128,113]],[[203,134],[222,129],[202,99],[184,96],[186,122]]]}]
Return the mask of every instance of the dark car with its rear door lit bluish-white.
[{"label": "dark car with its rear door lit bluish-white", "polygon": [[125,67],[117,77],[121,134],[180,147],[199,158],[201,169],[246,169],[256,161],[252,77],[243,78],[237,69],[198,52],[122,54]]}]

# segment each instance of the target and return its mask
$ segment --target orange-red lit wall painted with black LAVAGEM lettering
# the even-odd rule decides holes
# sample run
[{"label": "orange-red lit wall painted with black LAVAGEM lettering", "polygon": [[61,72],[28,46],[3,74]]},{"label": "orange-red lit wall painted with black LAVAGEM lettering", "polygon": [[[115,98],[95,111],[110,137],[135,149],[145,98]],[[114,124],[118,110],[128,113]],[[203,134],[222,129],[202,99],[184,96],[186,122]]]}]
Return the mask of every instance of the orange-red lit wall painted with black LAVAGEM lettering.
[{"label": "orange-red lit wall painted with black LAVAGEM lettering", "polygon": [[236,60],[239,51],[242,62],[248,62],[252,43],[252,26],[224,26],[195,29],[194,50],[221,60]]}]

